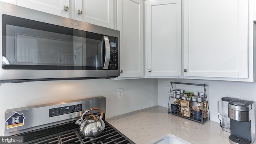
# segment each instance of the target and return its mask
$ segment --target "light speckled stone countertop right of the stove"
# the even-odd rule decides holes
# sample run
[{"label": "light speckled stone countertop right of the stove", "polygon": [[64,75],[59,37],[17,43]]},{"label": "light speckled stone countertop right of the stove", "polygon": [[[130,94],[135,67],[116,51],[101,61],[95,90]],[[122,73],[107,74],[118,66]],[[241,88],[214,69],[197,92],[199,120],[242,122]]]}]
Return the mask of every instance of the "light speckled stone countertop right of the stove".
[{"label": "light speckled stone countertop right of the stove", "polygon": [[166,134],[191,144],[229,144],[230,133],[221,130],[219,122],[207,121],[200,124],[168,114],[168,108],[162,106],[107,118],[106,121],[136,144],[149,144]]}]

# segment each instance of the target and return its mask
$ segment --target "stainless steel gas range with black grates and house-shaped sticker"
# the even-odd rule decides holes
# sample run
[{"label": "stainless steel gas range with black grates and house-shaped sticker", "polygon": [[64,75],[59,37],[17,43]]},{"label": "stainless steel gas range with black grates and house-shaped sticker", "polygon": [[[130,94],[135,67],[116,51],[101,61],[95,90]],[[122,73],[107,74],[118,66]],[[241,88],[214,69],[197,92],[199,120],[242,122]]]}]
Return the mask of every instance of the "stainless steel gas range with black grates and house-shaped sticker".
[{"label": "stainless steel gas range with black grates and house-shaped sticker", "polygon": [[[75,124],[89,108],[100,108],[104,131],[85,138]],[[94,97],[68,102],[9,109],[5,112],[5,136],[23,136],[24,144],[135,144],[105,120],[106,98]],[[88,115],[100,115],[91,110]]]}]

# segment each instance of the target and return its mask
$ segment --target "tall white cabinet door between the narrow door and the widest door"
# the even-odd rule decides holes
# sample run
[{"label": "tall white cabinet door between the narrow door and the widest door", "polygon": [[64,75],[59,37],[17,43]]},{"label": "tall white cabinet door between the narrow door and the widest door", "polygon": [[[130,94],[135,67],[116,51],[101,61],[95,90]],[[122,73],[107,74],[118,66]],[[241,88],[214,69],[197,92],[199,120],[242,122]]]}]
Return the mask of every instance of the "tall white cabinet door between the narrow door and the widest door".
[{"label": "tall white cabinet door between the narrow door and the widest door", "polygon": [[147,76],[181,76],[181,0],[145,1]]}]

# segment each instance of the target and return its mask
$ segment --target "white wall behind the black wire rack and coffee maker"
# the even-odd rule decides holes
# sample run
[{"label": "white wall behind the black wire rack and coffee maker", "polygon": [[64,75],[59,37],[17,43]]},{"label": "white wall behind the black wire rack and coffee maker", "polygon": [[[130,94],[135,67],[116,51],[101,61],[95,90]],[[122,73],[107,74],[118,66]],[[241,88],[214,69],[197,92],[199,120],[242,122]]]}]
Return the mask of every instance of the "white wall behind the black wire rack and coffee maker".
[{"label": "white wall behind the black wire rack and coffee maker", "polygon": [[[185,80],[185,79],[158,79],[158,105],[168,107],[169,95],[166,94],[166,86],[170,86],[170,82],[186,82],[196,84],[207,84],[206,94],[208,105],[210,108],[210,120],[220,122],[217,113],[217,101],[222,97],[232,97],[232,95],[241,96],[243,100],[256,102],[256,82],[230,82],[215,80]],[[202,86],[189,86],[182,84],[174,84],[174,89],[182,89],[187,91],[204,92]],[[172,98],[173,99],[173,98]],[[173,103],[173,102],[172,102]],[[220,117],[221,118],[221,117]]]}]

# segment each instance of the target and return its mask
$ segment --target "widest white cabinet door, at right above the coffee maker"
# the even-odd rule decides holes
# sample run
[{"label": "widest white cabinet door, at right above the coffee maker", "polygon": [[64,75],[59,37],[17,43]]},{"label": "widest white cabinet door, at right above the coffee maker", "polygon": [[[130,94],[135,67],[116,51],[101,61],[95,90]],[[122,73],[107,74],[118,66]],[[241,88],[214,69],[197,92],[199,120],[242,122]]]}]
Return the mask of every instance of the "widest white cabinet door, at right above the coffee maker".
[{"label": "widest white cabinet door, at right above the coffee maker", "polygon": [[248,0],[184,1],[184,77],[248,78]]}]

